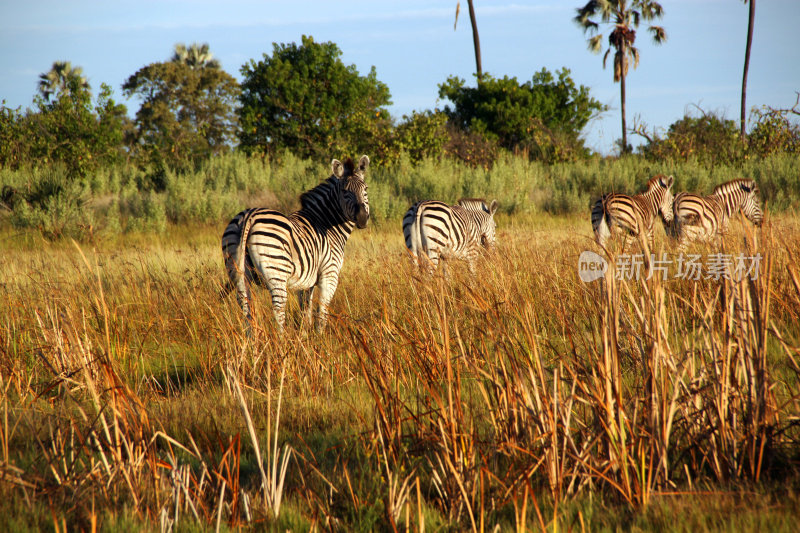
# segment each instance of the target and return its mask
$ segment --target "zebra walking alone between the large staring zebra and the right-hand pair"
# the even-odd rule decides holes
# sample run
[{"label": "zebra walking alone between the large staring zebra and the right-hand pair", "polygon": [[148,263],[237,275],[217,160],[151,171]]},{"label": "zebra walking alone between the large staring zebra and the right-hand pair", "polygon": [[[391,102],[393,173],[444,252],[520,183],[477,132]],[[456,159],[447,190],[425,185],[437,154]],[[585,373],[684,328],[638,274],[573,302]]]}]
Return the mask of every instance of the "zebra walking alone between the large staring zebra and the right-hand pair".
[{"label": "zebra walking alone between the large staring zebra and the right-hand pair", "polygon": [[461,199],[458,205],[435,200],[418,202],[403,217],[406,248],[420,268],[427,262],[433,272],[445,256],[466,259],[474,273],[480,247],[494,245],[496,211],[497,200],[488,206],[476,198]]}]

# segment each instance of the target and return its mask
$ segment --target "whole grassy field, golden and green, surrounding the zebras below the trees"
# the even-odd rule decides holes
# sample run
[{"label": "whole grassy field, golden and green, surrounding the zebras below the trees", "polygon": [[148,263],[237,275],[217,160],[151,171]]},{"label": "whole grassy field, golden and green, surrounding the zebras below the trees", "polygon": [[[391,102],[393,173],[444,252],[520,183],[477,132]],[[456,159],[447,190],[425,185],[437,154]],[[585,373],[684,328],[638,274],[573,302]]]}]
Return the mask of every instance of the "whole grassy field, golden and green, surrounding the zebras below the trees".
[{"label": "whole grassy field, golden and green, surrounding the zebras below the trees", "polygon": [[[325,162],[221,158],[145,193],[135,170],[80,190],[0,173],[63,192],[0,213],[0,512],[14,531],[794,531],[797,168],[376,165],[321,334],[294,298],[278,331],[265,289],[248,334],[219,242],[243,207],[296,209]],[[762,228],[689,250],[757,275],[580,279],[603,253],[591,199],[658,173],[758,182]],[[463,196],[498,199],[497,246],[474,276],[421,274],[403,212]],[[655,242],[677,260],[660,222]]]}]

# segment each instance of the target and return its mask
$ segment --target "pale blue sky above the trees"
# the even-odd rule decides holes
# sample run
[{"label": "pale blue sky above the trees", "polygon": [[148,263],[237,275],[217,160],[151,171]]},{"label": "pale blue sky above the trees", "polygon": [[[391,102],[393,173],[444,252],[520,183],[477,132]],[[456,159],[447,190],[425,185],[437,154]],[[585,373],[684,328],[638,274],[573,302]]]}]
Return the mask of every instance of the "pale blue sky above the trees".
[{"label": "pale blue sky above the trees", "polygon": [[[208,43],[241,81],[250,60],[273,43],[301,36],[332,41],[342,61],[372,66],[392,95],[390,113],[443,108],[438,85],[458,76],[474,85],[475,55],[466,0],[0,0],[0,100],[32,106],[39,74],[54,61],[83,68],[95,90],[107,83],[134,115],[139,102],[122,84],[141,67],[166,61],[176,43]],[[611,60],[591,53],[572,18],[584,0],[474,0],[483,71],[522,83],[543,67],[566,67],[610,110],[584,130],[587,145],[610,154],[621,136],[619,84]],[[741,0],[662,0],[667,31],[656,46],[640,27],[641,61],[626,82],[628,126],[664,132],[686,113],[715,112],[738,122],[748,7]],[[608,30],[601,28],[607,37]],[[607,42],[607,41],[606,41]],[[759,0],[747,106],[790,108],[800,91],[800,0]],[[628,136],[629,142],[641,142]]]}]

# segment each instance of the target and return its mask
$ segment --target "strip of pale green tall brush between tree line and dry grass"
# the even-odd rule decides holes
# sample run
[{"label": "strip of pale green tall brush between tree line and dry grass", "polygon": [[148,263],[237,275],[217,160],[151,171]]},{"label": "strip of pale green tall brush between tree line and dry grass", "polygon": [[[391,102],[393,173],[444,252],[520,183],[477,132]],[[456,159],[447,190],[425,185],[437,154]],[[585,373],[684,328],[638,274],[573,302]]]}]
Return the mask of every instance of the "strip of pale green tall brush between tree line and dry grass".
[{"label": "strip of pale green tall brush between tree line and dry grass", "polygon": [[[454,203],[461,197],[497,199],[500,211],[515,217],[584,216],[599,195],[639,192],[658,173],[675,176],[676,193],[705,194],[722,182],[753,178],[777,213],[800,206],[798,162],[797,155],[782,154],[736,166],[649,162],[640,157],[544,165],[507,155],[491,169],[476,169],[451,160],[411,164],[401,158],[393,166],[373,161],[367,182],[372,221],[379,227],[395,227],[416,201]],[[93,243],[120,234],[127,242],[142,234],[172,233],[176,224],[223,227],[245,207],[297,209],[299,195],[330,175],[329,165],[290,154],[273,161],[231,154],[211,159],[195,172],[160,173],[130,166],[100,170],[81,183],[70,181],[59,167],[0,169],[0,189],[10,187],[18,199],[46,198],[30,204],[18,200],[13,209],[0,211],[0,231],[38,228],[50,239],[73,237]]]}]

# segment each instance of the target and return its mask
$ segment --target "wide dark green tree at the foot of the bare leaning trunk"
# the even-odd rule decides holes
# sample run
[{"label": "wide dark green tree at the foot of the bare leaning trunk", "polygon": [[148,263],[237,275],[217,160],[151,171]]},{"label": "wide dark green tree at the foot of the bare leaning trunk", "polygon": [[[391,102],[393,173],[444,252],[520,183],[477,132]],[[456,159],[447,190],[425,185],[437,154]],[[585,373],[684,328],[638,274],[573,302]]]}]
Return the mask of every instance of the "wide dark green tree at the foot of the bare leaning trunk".
[{"label": "wide dark green tree at the foot of the bare leaning trunk", "polygon": [[482,134],[509,150],[528,150],[535,158],[570,158],[585,150],[581,130],[605,106],[587,87],[575,85],[569,69],[556,74],[543,68],[520,84],[514,77],[484,73],[477,87],[450,77],[439,85],[439,97],[453,103],[444,112],[462,131]]}]

